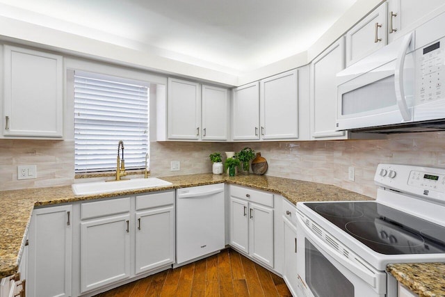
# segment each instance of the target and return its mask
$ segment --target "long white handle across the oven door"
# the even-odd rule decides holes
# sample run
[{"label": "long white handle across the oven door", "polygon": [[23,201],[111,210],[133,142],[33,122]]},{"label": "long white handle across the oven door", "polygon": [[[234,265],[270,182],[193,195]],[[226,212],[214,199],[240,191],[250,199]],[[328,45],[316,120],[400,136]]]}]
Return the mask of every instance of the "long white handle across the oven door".
[{"label": "long white handle across the oven door", "polygon": [[339,264],[343,265],[348,270],[352,271],[352,273],[357,275],[359,278],[361,278],[362,280],[364,280],[365,282],[370,284],[371,287],[375,288],[377,286],[377,276],[375,275],[375,273],[373,273],[373,271],[371,271],[366,266],[358,266],[350,259],[339,255],[339,252],[337,250],[334,250],[334,248],[332,248],[327,243],[325,243],[323,240],[321,240],[317,235],[314,234],[314,232],[312,232],[309,229],[309,227],[307,227],[307,225],[305,224],[305,222],[303,222],[303,220],[299,214],[297,214],[297,218],[298,218],[298,222],[302,226],[303,230],[305,230],[305,233],[313,234],[313,236],[310,236],[310,239],[312,241],[316,241],[316,243],[318,244],[318,246],[321,247],[322,250],[324,250],[325,252],[327,252],[328,255],[330,255],[335,260],[337,260],[337,262],[339,262]]}]

